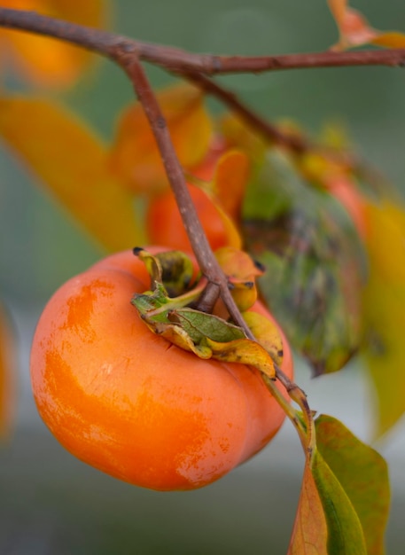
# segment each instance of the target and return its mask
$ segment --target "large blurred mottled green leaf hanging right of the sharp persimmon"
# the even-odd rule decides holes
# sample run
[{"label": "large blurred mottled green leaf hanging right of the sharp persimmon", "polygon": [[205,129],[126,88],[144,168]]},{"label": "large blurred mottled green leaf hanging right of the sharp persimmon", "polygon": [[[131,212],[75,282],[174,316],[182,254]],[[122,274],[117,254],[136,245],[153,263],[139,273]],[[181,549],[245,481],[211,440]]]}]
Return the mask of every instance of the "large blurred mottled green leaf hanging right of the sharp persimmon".
[{"label": "large blurred mottled green leaf hanging right of the sharp persimmon", "polygon": [[340,370],[360,344],[365,273],[344,207],[273,149],[253,173],[244,235],[247,250],[267,269],[259,288],[292,347],[316,375]]}]

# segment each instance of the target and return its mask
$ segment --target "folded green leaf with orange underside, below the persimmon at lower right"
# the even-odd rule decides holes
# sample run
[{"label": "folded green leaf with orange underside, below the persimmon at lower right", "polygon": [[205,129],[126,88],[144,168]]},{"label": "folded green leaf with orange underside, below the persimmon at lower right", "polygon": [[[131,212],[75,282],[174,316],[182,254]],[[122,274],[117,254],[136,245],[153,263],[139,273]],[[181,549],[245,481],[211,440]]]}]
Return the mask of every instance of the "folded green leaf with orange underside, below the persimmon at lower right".
[{"label": "folded green leaf with orange underside, below the persimmon at lower right", "polygon": [[383,555],[389,510],[385,460],[336,418],[315,420],[289,555]]}]

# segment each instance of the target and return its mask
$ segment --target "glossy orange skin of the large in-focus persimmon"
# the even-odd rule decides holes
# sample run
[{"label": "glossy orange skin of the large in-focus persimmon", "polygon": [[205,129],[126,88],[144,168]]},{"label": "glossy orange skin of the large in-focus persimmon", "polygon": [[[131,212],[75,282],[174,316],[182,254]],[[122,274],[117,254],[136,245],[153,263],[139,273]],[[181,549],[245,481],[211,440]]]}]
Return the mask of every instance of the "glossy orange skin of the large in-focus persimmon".
[{"label": "glossy orange skin of the large in-focus persimmon", "polygon": [[[82,461],[144,488],[197,489],[262,449],[284,412],[259,372],[201,360],[153,334],[130,304],[148,287],[131,252],[62,285],[35,331],[35,403]],[[285,340],[282,368],[292,377]]]}]

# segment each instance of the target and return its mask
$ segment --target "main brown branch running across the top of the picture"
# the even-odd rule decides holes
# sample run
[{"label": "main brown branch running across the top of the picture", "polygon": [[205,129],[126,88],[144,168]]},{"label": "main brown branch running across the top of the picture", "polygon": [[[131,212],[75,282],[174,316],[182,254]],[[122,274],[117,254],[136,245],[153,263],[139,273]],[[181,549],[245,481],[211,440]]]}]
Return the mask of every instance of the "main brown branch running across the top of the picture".
[{"label": "main brown branch running across the top of the picture", "polygon": [[284,69],[340,66],[405,66],[405,49],[314,52],[283,56],[213,56],[192,54],[160,44],[136,41],[99,29],[84,27],[35,12],[0,7],[0,27],[24,30],[74,43],[108,58],[138,59],[162,66],[174,73],[235,74],[262,73]]}]

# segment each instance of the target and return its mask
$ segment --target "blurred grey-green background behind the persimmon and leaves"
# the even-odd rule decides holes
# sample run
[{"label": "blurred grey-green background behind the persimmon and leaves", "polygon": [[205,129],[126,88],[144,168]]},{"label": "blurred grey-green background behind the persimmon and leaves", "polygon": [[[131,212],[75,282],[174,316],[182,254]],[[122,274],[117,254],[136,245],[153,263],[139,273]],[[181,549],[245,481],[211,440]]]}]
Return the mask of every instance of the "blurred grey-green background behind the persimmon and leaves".
[{"label": "blurred grey-green background behind the persimmon and leaves", "polygon": [[[110,5],[110,29],[196,52],[323,51],[337,40],[323,0],[253,0],[248,6],[236,0],[116,0]],[[354,7],[375,27],[405,32],[403,2],[357,0]],[[148,71],[157,87],[174,81],[159,69]],[[292,119],[310,134],[338,121],[357,152],[403,190],[403,69],[294,70],[235,75],[222,82],[269,119]],[[21,89],[12,78],[6,84]],[[124,75],[105,60],[62,96],[106,140],[113,136],[117,113],[133,99]],[[285,553],[303,466],[289,424],[259,456],[221,481],[194,492],[165,494],[131,487],[82,464],[43,426],[29,387],[35,322],[58,285],[102,255],[0,144],[0,291],[18,346],[15,418],[10,438],[0,446],[0,553]],[[297,381],[311,406],[370,441],[372,390],[361,364],[312,380],[298,361]],[[405,546],[405,423],[376,447],[388,460],[393,481],[387,553],[400,555]]]}]

